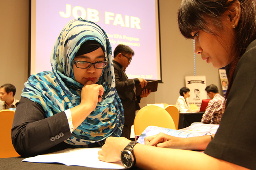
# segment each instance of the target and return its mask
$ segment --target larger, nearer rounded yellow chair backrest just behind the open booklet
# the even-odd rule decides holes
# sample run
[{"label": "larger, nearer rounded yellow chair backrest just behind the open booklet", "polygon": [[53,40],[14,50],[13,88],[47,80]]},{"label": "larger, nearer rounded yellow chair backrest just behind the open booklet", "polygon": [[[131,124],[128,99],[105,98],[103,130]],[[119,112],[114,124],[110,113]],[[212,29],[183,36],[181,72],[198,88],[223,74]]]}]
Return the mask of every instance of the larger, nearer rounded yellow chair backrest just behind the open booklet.
[{"label": "larger, nearer rounded yellow chair backrest just behind the open booklet", "polygon": [[140,135],[148,126],[176,129],[172,117],[162,107],[149,105],[142,107],[134,119],[134,134]]}]

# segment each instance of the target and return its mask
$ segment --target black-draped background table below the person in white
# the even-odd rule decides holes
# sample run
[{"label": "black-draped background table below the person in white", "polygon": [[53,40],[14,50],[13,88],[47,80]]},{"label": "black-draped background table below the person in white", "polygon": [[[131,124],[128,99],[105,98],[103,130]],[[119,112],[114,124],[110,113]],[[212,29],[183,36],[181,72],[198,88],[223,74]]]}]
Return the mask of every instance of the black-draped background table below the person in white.
[{"label": "black-draped background table below the person in white", "polygon": [[204,111],[196,113],[180,113],[178,129],[188,127],[193,122],[201,122]]}]

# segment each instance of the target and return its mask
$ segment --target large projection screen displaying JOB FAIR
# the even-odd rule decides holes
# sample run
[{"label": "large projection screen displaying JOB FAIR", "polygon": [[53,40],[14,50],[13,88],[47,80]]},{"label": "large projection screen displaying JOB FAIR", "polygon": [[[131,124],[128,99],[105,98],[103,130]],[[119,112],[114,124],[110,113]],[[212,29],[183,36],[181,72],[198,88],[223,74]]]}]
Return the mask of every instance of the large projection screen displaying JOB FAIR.
[{"label": "large projection screen displaying JOB FAIR", "polygon": [[31,0],[30,74],[52,70],[50,54],[68,21],[82,17],[101,26],[112,50],[128,45],[135,55],[128,78],[161,82],[158,0]]}]

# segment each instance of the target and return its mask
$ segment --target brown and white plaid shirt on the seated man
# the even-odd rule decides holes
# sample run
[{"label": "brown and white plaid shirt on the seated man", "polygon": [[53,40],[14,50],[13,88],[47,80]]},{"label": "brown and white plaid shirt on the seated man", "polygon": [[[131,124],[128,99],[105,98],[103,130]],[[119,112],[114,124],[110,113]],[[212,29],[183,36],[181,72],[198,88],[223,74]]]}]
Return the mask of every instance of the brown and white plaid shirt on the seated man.
[{"label": "brown and white plaid shirt on the seated man", "polygon": [[208,103],[201,122],[219,124],[225,110],[225,107],[223,107],[224,101],[225,98],[223,98],[220,94],[216,94]]}]

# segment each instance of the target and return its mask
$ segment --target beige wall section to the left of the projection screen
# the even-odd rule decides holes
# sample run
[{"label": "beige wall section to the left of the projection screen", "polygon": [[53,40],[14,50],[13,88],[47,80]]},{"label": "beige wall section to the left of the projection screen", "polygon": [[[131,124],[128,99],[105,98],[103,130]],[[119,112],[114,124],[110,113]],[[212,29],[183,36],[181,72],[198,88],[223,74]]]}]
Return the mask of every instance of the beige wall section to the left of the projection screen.
[{"label": "beige wall section to the left of the projection screen", "polygon": [[0,2],[0,86],[16,86],[16,99],[27,80],[29,51],[29,0]]}]

